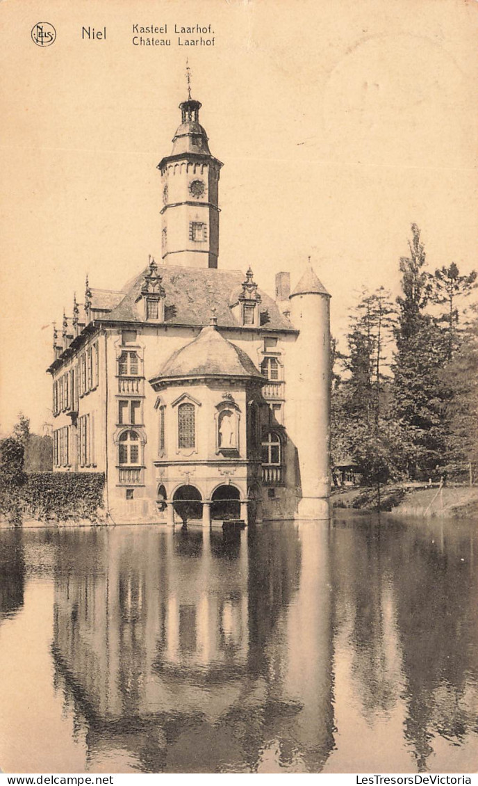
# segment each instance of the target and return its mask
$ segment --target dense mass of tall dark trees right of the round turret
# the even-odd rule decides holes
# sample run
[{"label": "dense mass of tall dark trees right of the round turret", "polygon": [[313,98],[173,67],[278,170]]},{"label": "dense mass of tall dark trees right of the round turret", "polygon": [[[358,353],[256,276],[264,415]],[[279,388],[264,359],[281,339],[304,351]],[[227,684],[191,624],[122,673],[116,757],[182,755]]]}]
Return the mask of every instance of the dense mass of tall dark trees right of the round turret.
[{"label": "dense mass of tall dark trees right of the round turret", "polygon": [[411,234],[396,303],[383,287],[362,292],[345,353],[332,347],[332,457],[364,483],[477,466],[478,318],[464,319],[476,272],[429,272]]}]

